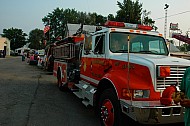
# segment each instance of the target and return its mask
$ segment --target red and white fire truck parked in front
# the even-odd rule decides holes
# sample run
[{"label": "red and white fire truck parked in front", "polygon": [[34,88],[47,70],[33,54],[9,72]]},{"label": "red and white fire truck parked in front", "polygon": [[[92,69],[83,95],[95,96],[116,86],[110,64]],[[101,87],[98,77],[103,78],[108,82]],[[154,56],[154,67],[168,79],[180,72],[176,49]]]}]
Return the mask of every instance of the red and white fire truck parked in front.
[{"label": "red and white fire truck parked in front", "polygon": [[93,33],[56,43],[53,53],[59,88],[95,106],[101,125],[119,126],[123,114],[142,124],[183,121],[184,108],[160,98],[180,84],[190,61],[170,57],[165,39],[151,27],[107,21]]}]

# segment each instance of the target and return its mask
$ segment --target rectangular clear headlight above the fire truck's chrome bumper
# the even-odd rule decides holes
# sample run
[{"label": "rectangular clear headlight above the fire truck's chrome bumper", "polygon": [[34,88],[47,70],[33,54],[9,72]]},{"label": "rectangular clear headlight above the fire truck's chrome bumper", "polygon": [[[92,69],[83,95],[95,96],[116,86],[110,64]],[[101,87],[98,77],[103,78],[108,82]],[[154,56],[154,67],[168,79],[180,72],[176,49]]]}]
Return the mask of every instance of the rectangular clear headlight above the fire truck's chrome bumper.
[{"label": "rectangular clear headlight above the fire truck's chrome bumper", "polygon": [[134,98],[149,98],[150,90],[134,90],[133,97]]}]

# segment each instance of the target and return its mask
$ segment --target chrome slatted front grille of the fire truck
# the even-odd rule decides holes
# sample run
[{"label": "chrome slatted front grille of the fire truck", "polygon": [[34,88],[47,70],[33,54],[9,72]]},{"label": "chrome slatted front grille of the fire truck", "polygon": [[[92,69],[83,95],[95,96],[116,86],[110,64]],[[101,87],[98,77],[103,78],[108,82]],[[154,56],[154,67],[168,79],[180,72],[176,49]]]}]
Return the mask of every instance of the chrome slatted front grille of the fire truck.
[{"label": "chrome slatted front grille of the fire truck", "polygon": [[170,76],[166,78],[157,77],[156,90],[164,90],[170,85],[180,85],[183,74],[189,66],[170,66]]}]

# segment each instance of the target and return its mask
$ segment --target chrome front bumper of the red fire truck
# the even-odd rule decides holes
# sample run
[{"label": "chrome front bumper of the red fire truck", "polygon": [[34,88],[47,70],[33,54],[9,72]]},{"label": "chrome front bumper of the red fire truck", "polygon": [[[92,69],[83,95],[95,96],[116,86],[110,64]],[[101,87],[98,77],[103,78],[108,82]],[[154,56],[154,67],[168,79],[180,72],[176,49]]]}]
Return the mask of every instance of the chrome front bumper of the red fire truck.
[{"label": "chrome front bumper of the red fire truck", "polygon": [[124,114],[142,124],[169,124],[183,122],[184,108],[164,106],[160,101],[130,101],[120,99]]}]

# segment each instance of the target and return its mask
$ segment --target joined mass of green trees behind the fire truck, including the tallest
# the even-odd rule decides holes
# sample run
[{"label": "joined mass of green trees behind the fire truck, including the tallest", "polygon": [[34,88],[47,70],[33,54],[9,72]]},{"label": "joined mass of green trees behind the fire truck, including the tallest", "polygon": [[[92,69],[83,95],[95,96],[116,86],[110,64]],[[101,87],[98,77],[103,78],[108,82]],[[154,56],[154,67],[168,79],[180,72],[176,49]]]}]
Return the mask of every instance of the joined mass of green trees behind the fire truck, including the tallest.
[{"label": "joined mass of green trees behind the fire truck, including the tallest", "polygon": [[123,0],[118,2],[119,10],[116,16],[109,14],[107,17],[99,15],[97,13],[86,13],[76,11],[75,9],[60,9],[56,8],[53,12],[48,13],[42,21],[45,26],[50,26],[50,31],[46,33],[47,44],[54,43],[57,38],[62,39],[67,36],[68,28],[67,24],[84,24],[84,25],[104,25],[107,20],[122,21],[135,24],[145,24],[154,27],[155,21],[153,21],[149,15],[150,12],[146,10],[142,11],[142,3],[139,0]]}]

